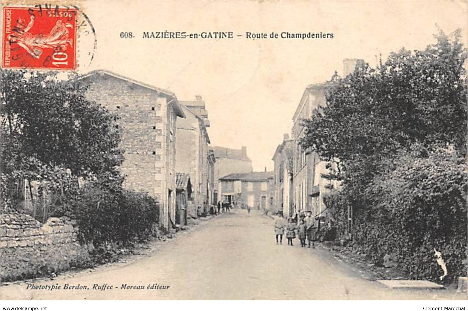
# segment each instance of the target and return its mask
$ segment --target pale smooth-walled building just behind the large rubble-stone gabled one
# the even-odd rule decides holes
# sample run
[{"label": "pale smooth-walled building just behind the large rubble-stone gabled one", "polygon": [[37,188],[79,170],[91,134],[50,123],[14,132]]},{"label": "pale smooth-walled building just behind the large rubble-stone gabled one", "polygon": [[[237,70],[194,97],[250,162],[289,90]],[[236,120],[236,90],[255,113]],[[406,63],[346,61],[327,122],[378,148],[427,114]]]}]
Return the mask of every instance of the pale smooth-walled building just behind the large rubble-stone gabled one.
[{"label": "pale smooth-walled building just behind the large rubble-stone gabled one", "polygon": [[[201,97],[197,99],[199,100],[195,102],[180,102],[186,118],[179,118],[176,123],[176,171],[190,175],[192,196],[189,198],[191,202],[187,210],[190,216],[197,216],[198,206],[207,212],[209,205],[212,204],[212,185],[210,187],[209,184],[212,158],[210,158],[211,153],[208,148],[210,138],[207,132],[210,123],[208,114],[204,110],[205,102],[201,100]],[[195,106],[195,103],[199,105]],[[190,107],[195,110],[185,104],[192,104]],[[199,114],[201,112],[204,113],[203,116]]]}]

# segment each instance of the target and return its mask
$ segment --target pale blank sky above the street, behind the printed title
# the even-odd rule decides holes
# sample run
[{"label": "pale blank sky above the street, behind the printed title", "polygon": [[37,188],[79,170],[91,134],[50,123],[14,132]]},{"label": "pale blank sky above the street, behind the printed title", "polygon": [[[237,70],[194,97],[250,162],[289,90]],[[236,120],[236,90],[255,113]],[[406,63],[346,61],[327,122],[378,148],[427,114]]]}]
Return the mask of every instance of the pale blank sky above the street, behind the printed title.
[{"label": "pale blank sky above the street, behind the printed title", "polygon": [[[401,47],[434,42],[436,24],[467,35],[461,1],[84,1],[97,34],[93,69],[169,89],[179,100],[201,95],[213,145],[247,146],[254,170],[266,166],[304,88],[343,71],[344,58],[376,64]],[[143,31],[333,32],[334,39],[161,40]],[[132,31],[134,39],[121,39]],[[82,71],[84,72],[84,71]]]}]

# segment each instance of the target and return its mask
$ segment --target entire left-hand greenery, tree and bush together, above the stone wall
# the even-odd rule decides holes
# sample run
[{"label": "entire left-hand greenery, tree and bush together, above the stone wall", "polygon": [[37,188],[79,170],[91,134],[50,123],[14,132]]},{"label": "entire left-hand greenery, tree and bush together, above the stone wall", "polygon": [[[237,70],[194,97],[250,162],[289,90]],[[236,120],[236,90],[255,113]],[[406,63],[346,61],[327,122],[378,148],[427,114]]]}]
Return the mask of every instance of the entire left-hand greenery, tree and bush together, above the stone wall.
[{"label": "entire left-hand greenery, tree and bush together, above the stone wall", "polygon": [[86,98],[87,85],[54,72],[0,71],[0,79],[2,212],[71,217],[102,262],[157,230],[155,199],[122,187],[117,116]]}]

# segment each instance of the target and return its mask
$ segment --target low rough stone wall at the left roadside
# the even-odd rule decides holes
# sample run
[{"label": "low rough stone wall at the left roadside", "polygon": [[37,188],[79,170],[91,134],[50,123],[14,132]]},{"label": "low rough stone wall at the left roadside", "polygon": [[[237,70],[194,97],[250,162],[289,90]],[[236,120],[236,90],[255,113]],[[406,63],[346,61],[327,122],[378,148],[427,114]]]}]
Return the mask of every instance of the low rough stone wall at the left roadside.
[{"label": "low rough stone wall at the left roadside", "polygon": [[0,280],[28,279],[89,262],[87,247],[67,217],[49,218],[42,225],[25,214],[0,214]]}]

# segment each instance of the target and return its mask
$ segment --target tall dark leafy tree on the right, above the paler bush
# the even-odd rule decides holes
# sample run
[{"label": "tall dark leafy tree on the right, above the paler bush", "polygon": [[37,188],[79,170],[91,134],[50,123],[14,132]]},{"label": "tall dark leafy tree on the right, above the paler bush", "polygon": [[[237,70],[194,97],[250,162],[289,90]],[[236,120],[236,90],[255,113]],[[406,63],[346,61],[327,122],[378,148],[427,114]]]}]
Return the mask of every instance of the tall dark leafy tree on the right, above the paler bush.
[{"label": "tall dark leafy tree on the right, above the paler bush", "polygon": [[415,142],[452,144],[464,153],[466,57],[459,32],[453,39],[440,33],[422,51],[401,49],[375,69],[366,64],[335,79],[322,113],[304,122],[303,146],[323,158],[338,157],[345,167],[358,161],[372,169]]}]

